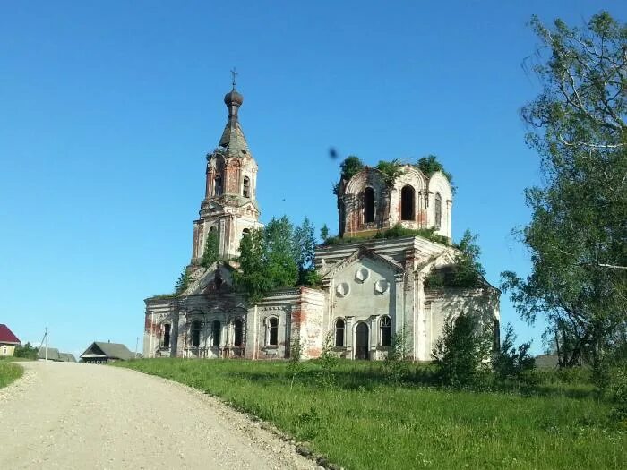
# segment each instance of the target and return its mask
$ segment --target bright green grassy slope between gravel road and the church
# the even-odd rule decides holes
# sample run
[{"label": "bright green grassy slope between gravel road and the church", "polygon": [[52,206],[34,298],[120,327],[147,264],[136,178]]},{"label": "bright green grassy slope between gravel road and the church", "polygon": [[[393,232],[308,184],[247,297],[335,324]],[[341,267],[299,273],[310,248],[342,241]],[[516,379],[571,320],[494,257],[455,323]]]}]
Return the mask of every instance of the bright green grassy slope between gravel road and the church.
[{"label": "bright green grassy slope between gravel road and the church", "polygon": [[116,363],[183,382],[275,423],[348,468],[627,468],[627,434],[592,397],[520,396],[395,387],[380,365],[341,363],[338,386],[306,363]]}]

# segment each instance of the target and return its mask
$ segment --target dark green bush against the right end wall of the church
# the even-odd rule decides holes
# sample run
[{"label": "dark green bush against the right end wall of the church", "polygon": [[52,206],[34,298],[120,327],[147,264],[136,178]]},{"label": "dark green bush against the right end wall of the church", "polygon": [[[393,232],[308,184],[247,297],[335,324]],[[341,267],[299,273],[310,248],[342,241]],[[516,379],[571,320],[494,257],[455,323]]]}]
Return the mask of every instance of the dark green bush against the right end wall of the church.
[{"label": "dark green bush against the right end wall of the church", "polygon": [[481,331],[475,317],[466,312],[445,321],[431,354],[442,382],[453,388],[473,385],[489,356],[490,340],[487,329]]}]

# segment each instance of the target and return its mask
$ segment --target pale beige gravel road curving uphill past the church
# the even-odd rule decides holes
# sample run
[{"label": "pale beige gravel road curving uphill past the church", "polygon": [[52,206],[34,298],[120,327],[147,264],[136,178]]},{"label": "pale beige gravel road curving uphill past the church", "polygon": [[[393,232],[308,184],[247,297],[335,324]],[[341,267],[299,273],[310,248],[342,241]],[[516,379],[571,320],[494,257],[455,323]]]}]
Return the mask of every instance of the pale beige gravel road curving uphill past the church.
[{"label": "pale beige gravel road curving uphill past the church", "polygon": [[0,389],[0,468],[315,468],[184,385],[84,363],[21,363]]}]

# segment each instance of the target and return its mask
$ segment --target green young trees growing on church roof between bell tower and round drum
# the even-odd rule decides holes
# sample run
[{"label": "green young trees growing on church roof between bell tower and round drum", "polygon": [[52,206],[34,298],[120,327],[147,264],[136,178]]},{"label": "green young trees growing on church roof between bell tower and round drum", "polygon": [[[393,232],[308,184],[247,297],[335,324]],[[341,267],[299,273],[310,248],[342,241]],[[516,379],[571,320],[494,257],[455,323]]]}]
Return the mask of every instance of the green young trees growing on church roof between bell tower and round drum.
[{"label": "green young trees growing on church roof between bell tower and round drum", "polygon": [[273,289],[296,286],[298,266],[293,235],[294,228],[284,216],[272,218],[267,226],[242,238],[240,269],[233,273],[233,281],[250,302],[260,302]]}]

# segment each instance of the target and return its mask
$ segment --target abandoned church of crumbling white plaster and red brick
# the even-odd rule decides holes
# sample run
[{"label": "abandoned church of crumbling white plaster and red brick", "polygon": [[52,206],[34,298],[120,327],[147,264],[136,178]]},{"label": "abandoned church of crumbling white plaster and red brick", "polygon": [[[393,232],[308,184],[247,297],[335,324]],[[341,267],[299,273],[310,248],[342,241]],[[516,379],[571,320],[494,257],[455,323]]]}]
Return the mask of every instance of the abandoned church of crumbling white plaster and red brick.
[{"label": "abandoned church of crumbling white plaster and red brick", "polygon": [[[235,85],[224,101],[228,123],[216,150],[207,155],[205,196],[193,222],[189,283],[180,295],[145,300],[144,357],[279,359],[299,338],[304,358],[322,352],[327,335],[333,350],[348,359],[382,359],[395,333],[404,329],[409,355],[428,361],[442,326],[471,312],[498,330],[498,289],[430,286],[459,253],[449,243],[423,236],[374,238],[393,226],[433,228],[451,241],[453,192],[441,171],[425,175],[405,165],[393,181],[364,167],[338,186],[339,238],[344,243],[316,248],[320,288],[298,286],[247,303],[233,286],[232,273],[245,234],[261,227],[257,204],[257,163],[245,140],[238,112],[243,103]],[[262,191],[263,188],[260,188]],[[218,235],[219,260],[201,264],[205,241]],[[226,260],[226,261],[225,261]]]}]

